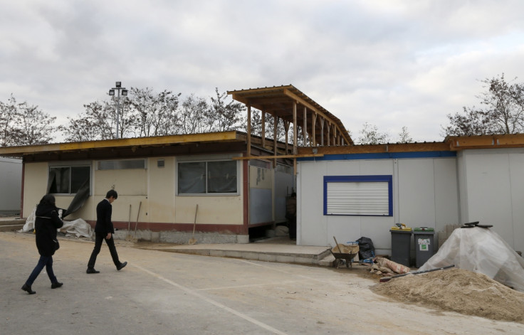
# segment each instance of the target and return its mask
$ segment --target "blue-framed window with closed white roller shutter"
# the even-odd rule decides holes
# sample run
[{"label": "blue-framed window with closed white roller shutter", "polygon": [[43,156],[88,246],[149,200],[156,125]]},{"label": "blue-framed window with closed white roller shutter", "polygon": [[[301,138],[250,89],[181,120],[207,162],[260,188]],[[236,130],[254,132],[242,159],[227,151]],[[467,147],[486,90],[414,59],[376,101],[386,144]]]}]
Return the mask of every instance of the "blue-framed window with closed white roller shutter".
[{"label": "blue-framed window with closed white roller shutter", "polygon": [[324,215],[393,216],[392,176],[324,176]]}]

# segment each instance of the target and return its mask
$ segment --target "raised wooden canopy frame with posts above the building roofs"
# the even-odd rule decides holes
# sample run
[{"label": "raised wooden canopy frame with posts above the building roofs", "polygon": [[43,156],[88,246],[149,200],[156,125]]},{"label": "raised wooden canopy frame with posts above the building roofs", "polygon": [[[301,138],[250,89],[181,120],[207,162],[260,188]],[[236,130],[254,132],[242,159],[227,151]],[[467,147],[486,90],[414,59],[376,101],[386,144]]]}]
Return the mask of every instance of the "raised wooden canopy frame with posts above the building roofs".
[{"label": "raised wooden canopy frame with posts above the building roofs", "polygon": [[[322,106],[300,92],[293,85],[253,88],[248,90],[228,91],[233,99],[242,102],[248,109],[247,132],[251,134],[251,107],[262,112],[261,137],[263,146],[266,139],[266,113],[272,115],[275,122],[273,148],[276,148],[278,120],[282,119],[285,129],[285,143],[288,143],[288,129],[293,123],[293,151],[297,154],[297,135],[300,127],[304,139],[303,147],[347,146],[353,145],[350,134],[340,119],[327,112]],[[310,120],[308,122],[308,120]],[[249,139],[250,137],[248,137]],[[251,146],[248,144],[248,150]],[[276,150],[274,150],[276,155]],[[287,149],[285,154],[288,154]],[[251,156],[248,152],[248,156]]]}]

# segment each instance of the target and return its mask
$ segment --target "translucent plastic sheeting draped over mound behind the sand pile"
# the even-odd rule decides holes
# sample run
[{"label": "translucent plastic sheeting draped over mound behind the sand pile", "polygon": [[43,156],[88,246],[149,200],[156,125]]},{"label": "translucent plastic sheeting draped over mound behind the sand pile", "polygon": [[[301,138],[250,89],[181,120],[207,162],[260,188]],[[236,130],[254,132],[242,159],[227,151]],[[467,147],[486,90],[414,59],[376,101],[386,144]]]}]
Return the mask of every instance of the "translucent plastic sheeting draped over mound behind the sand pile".
[{"label": "translucent plastic sheeting draped over mound behind the sand pile", "polygon": [[447,265],[483,273],[497,282],[524,292],[524,259],[500,235],[488,228],[457,228],[439,252],[420,271]]}]

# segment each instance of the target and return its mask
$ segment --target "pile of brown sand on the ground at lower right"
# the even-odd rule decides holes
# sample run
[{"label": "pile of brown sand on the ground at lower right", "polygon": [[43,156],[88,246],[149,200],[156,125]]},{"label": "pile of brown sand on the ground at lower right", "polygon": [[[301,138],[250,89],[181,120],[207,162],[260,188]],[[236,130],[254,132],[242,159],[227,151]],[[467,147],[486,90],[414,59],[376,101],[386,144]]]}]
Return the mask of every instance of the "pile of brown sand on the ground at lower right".
[{"label": "pile of brown sand on the ground at lower right", "polygon": [[372,289],[401,302],[524,324],[524,293],[468,270],[452,268],[407,275]]}]

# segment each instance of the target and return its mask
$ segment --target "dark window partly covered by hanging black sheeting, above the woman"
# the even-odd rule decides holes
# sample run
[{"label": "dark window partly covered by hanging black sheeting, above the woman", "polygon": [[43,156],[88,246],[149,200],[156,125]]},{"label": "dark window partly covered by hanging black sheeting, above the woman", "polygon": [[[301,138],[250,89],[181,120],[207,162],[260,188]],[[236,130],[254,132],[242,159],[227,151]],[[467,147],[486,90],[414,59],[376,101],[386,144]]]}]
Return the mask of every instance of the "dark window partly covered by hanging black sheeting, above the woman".
[{"label": "dark window partly covered by hanging black sheeting, above the woman", "polygon": [[48,176],[48,193],[75,194],[90,186],[91,166],[51,166]]}]

